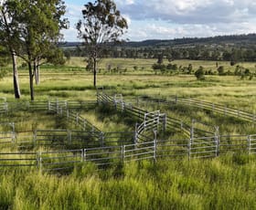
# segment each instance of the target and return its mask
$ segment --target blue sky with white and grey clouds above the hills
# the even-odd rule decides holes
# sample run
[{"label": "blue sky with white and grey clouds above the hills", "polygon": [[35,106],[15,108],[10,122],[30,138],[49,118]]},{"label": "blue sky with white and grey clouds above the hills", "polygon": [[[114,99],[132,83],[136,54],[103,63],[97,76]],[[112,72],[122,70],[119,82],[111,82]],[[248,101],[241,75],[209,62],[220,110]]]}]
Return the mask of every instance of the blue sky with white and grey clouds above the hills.
[{"label": "blue sky with white and grey clouds above the hills", "polygon": [[[77,38],[76,23],[86,0],[64,0],[69,29],[66,41]],[[94,3],[94,0],[91,1]],[[215,37],[256,33],[256,0],[115,0],[128,22],[130,41]]]}]

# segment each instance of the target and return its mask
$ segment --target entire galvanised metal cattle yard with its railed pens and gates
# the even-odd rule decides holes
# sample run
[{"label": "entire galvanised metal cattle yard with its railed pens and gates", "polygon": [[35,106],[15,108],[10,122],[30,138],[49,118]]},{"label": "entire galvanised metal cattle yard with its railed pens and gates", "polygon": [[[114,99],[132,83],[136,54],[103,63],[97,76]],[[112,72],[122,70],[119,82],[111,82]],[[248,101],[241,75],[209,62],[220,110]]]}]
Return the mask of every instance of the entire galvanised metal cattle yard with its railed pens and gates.
[{"label": "entire galvanised metal cattle yard with its railed pens and gates", "polygon": [[[254,114],[206,101],[172,97],[143,97],[123,100],[122,94],[111,96],[98,89],[97,100],[7,102],[0,98],[0,114],[14,110],[48,111],[76,125],[76,130],[16,131],[15,123],[0,122],[0,170],[13,167],[34,167],[41,171],[72,169],[75,165],[92,162],[105,165],[144,159],[213,158],[226,152],[256,153],[255,135],[220,135],[219,127],[196,120],[187,124],[167,116],[160,110],[147,111],[140,104],[174,104],[210,110],[225,116],[255,122]],[[78,110],[109,107],[132,118],[134,131],[104,132],[87,121]],[[200,129],[197,128],[200,124]],[[2,128],[2,130],[1,130]],[[3,129],[4,128],[4,129]],[[203,128],[203,129],[202,129]],[[178,132],[181,139],[168,133]],[[158,137],[158,136],[161,136]],[[163,137],[164,136],[164,137]]]}]

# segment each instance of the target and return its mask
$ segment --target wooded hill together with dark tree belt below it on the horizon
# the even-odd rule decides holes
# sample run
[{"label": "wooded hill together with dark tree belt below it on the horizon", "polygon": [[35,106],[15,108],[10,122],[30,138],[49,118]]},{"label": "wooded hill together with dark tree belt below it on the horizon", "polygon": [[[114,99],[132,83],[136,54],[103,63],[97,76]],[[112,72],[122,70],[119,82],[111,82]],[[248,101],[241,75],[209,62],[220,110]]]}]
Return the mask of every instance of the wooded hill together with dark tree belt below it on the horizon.
[{"label": "wooded hill together with dark tree belt below it on the horizon", "polygon": [[[87,56],[79,43],[67,44],[66,57]],[[127,42],[104,50],[105,58],[167,58],[193,60],[256,61],[256,35],[180,38]]]}]

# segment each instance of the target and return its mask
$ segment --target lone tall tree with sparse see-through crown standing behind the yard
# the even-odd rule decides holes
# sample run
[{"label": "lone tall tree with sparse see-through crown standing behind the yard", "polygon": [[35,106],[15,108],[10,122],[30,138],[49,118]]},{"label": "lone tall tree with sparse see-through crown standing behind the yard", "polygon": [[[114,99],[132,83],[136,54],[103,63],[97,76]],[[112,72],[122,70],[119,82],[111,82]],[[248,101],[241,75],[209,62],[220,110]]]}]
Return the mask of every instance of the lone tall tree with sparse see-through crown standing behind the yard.
[{"label": "lone tall tree with sparse see-through crown standing behind the yard", "polygon": [[77,24],[78,37],[83,39],[93,66],[93,85],[96,87],[97,62],[102,48],[110,43],[119,42],[127,22],[112,0],[89,2],[82,10],[83,19]]}]

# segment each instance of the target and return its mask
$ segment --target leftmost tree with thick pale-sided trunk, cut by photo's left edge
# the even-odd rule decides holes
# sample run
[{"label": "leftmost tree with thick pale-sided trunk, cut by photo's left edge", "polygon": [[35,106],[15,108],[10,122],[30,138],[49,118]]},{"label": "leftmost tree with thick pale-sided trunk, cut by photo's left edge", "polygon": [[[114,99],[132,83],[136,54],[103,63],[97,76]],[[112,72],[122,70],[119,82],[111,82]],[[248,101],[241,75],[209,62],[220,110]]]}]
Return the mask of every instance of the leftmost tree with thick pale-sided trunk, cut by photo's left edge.
[{"label": "leftmost tree with thick pale-sided trunk, cut by photo's left edge", "polygon": [[16,49],[18,48],[18,25],[15,22],[13,16],[16,11],[9,10],[7,6],[10,4],[10,1],[1,1],[0,5],[0,42],[1,45],[6,47],[9,51],[9,54],[12,58],[13,63],[13,83],[14,83],[14,92],[15,98],[20,98],[20,89],[18,82],[18,72],[17,72],[17,63],[16,63]]}]

